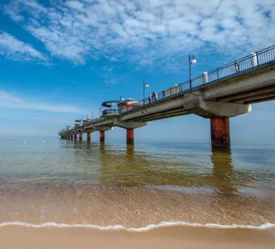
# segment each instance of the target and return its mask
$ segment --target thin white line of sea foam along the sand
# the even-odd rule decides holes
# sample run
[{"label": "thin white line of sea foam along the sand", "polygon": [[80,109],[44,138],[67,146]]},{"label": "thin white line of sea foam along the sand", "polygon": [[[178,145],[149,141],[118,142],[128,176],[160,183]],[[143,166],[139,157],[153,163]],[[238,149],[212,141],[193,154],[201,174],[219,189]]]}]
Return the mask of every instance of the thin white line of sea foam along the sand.
[{"label": "thin white line of sea foam along the sand", "polygon": [[127,230],[133,232],[142,232],[148,231],[154,228],[162,228],[167,226],[192,226],[192,227],[206,227],[206,228],[247,228],[247,229],[267,229],[267,228],[274,228],[275,224],[265,223],[259,226],[251,226],[251,225],[238,225],[238,224],[231,224],[231,225],[221,225],[221,224],[199,224],[199,223],[189,223],[185,221],[161,221],[159,224],[149,224],[147,226],[143,226],[141,228],[125,228],[122,225],[112,225],[112,226],[98,226],[93,224],[65,224],[65,223],[56,223],[56,222],[45,222],[43,224],[31,224],[27,222],[21,221],[9,221],[3,222],[0,224],[1,226],[28,226],[32,228],[43,228],[43,227],[58,227],[58,228],[95,228],[99,230]]}]

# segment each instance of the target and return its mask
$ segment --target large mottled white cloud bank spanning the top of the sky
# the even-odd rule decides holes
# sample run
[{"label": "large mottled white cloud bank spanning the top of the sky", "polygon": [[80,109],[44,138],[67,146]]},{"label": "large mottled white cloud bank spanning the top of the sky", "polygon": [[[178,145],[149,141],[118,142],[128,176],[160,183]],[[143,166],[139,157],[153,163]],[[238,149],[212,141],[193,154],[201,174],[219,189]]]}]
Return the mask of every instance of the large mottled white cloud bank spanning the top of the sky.
[{"label": "large mottled white cloud bank spanning the top of the sky", "polygon": [[70,0],[48,7],[11,0],[4,8],[52,56],[76,64],[103,57],[177,69],[192,51],[241,56],[275,41],[270,0]]}]

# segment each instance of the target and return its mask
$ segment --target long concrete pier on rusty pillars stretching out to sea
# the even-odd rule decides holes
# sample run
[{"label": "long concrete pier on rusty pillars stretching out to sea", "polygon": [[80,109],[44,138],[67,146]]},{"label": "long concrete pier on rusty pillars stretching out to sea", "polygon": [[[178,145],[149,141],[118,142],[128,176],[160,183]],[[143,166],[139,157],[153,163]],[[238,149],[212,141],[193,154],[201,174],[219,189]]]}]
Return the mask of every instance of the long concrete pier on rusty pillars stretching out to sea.
[{"label": "long concrete pier on rusty pillars stretching out to sea", "polygon": [[252,111],[252,104],[275,100],[275,45],[255,52],[184,83],[174,85],[142,100],[102,102],[96,119],[75,120],[72,127],[58,132],[61,139],[83,139],[113,127],[126,129],[126,142],[134,143],[134,130],[147,122],[196,114],[210,119],[212,148],[230,148],[230,118]]}]

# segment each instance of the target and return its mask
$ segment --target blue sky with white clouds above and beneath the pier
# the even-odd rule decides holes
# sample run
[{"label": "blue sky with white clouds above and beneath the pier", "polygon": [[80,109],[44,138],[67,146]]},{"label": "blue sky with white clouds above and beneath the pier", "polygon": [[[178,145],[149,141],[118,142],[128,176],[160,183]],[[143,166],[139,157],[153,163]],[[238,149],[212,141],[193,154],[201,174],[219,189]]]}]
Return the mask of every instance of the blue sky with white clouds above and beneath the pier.
[{"label": "blue sky with white clouds above and beneath the pier", "polygon": [[[188,80],[188,54],[197,76],[274,45],[274,25],[271,0],[0,0],[0,136],[57,136],[103,101],[142,99],[143,82],[147,96]],[[252,109],[230,118],[233,142],[274,140],[274,101]],[[135,138],[210,140],[210,121],[148,122]]]}]

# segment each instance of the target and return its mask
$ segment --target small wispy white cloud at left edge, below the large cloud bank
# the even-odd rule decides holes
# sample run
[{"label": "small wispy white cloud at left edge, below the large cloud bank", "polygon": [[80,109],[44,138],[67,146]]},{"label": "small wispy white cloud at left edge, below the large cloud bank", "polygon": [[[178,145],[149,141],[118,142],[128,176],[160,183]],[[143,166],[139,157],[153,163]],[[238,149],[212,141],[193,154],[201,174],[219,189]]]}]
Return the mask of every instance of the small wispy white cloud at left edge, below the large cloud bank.
[{"label": "small wispy white cloud at left edge, below the large cloud bank", "polygon": [[6,32],[0,32],[0,54],[16,61],[47,60],[47,58],[41,54],[41,52],[35,50],[32,45],[23,43]]}]

